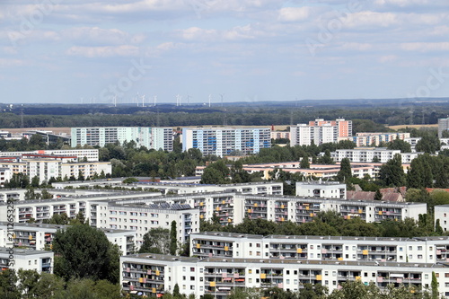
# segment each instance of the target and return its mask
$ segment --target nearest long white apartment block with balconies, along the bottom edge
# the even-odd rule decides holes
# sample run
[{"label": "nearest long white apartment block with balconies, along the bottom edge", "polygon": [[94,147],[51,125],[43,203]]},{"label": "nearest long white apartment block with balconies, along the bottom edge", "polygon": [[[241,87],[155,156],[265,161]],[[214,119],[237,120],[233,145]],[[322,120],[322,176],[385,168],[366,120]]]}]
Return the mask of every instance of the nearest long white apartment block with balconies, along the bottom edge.
[{"label": "nearest long white apartment block with balconies, along the bottom edge", "polygon": [[449,268],[445,264],[377,261],[327,261],[260,258],[194,259],[157,254],[120,258],[120,285],[131,294],[160,297],[178,284],[180,293],[225,299],[233,288],[266,289],[277,286],[298,291],[304,284],[321,284],[332,292],[348,281],[374,283],[381,289],[393,284],[431,285],[435,272],[440,295],[449,295]]}]

